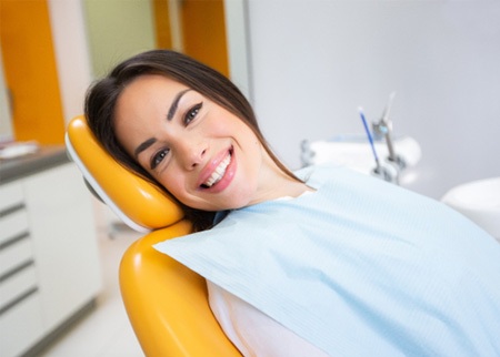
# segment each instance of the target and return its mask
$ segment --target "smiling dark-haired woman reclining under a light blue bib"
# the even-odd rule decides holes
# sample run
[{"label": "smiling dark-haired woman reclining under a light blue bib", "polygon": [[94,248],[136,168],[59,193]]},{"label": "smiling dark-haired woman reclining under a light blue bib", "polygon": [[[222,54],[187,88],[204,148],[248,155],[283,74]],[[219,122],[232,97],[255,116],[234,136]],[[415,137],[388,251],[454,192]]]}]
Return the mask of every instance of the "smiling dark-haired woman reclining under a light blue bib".
[{"label": "smiling dark-haired woman reclining under a light blue bib", "polygon": [[182,204],[199,232],[154,248],[207,279],[243,355],[500,355],[494,238],[376,177],[291,173],[217,71],[138,54],[89,90],[86,115],[116,160]]}]

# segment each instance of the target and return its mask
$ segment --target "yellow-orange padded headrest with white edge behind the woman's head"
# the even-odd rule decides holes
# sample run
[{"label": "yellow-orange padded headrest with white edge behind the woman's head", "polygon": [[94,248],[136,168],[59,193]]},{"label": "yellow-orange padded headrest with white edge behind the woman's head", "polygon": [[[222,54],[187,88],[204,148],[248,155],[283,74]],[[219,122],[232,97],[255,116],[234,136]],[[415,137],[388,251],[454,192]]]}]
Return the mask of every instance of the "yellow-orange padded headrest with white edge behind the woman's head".
[{"label": "yellow-orange padded headrest with white edge behind the woman's head", "polygon": [[183,217],[178,203],[129,171],[98,143],[84,116],[68,125],[66,146],[84,180],[127,225],[139,232],[169,226]]}]

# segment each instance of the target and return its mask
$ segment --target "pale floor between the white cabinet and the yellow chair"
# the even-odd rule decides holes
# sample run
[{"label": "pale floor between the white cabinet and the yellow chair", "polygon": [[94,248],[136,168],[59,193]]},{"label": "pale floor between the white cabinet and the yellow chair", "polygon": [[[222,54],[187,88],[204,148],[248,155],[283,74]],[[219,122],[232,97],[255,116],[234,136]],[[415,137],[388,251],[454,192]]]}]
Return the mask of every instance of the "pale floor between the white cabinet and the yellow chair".
[{"label": "pale floor between the white cabinet and the yellow chair", "polygon": [[106,225],[99,228],[103,289],[97,308],[78,322],[40,357],[143,357],[127,318],[118,286],[118,266],[137,233],[119,230],[110,238]]}]

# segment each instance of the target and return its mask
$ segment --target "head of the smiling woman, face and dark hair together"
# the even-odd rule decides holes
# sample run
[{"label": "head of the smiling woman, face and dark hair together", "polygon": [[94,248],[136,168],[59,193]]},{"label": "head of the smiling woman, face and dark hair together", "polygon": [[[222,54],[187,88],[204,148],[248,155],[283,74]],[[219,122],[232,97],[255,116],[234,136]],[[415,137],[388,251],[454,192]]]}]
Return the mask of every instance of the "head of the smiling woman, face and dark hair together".
[{"label": "head of the smiling woman, face and dark hair together", "polygon": [[[269,184],[282,181],[279,187],[293,195],[303,191],[267,145],[239,89],[178,52],[149,51],[119,64],[89,91],[86,114],[113,157],[162,190],[179,193],[171,192],[199,228],[212,224],[216,211],[282,194]],[[193,142],[197,147],[189,147]],[[257,176],[253,170],[261,161],[266,170]],[[181,170],[194,174],[186,181],[172,175]],[[234,180],[246,184],[231,185]],[[226,197],[216,195],[222,191]]]}]

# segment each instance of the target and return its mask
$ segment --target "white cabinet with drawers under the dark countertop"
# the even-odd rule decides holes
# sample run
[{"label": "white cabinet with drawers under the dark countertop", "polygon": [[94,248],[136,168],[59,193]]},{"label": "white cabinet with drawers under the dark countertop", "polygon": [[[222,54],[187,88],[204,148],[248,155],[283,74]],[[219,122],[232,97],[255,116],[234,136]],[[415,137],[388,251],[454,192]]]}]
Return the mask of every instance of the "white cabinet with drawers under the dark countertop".
[{"label": "white cabinet with drawers under the dark countertop", "polygon": [[92,203],[72,163],[0,185],[0,350],[21,356],[101,289]]}]

